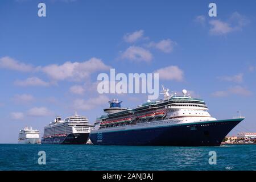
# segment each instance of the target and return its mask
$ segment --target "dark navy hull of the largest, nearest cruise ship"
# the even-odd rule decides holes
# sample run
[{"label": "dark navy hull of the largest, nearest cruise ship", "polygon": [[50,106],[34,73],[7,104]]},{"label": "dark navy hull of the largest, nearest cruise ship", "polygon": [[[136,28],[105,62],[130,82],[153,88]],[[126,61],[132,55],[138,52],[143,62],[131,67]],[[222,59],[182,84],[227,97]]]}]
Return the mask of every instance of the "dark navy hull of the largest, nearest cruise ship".
[{"label": "dark navy hull of the largest, nearest cruise ship", "polygon": [[147,129],[90,133],[93,144],[123,146],[220,146],[243,119],[187,123]]}]

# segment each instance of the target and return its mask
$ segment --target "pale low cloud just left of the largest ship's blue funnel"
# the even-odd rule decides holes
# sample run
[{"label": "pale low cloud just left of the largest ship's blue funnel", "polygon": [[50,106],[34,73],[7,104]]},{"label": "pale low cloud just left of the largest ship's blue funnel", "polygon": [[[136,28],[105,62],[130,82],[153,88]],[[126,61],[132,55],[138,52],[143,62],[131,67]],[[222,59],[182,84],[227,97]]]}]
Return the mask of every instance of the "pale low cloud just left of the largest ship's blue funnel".
[{"label": "pale low cloud just left of the largest ship's blue funnel", "polygon": [[73,102],[73,107],[77,110],[90,110],[96,106],[106,104],[108,103],[108,101],[109,101],[108,97],[104,95],[100,95],[96,98],[90,98],[89,100],[86,100],[86,101],[82,99],[77,99]]}]

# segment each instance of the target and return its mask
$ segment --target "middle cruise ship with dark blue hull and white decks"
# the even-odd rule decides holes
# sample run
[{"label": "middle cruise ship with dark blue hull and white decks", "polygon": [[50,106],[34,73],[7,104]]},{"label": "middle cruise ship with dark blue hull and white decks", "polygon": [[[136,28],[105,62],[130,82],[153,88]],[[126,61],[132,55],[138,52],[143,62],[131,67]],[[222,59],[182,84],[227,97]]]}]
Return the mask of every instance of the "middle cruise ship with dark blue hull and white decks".
[{"label": "middle cruise ship with dark blue hull and white decks", "polygon": [[63,120],[59,116],[44,127],[42,144],[86,144],[89,139],[90,125],[88,119],[75,113]]}]

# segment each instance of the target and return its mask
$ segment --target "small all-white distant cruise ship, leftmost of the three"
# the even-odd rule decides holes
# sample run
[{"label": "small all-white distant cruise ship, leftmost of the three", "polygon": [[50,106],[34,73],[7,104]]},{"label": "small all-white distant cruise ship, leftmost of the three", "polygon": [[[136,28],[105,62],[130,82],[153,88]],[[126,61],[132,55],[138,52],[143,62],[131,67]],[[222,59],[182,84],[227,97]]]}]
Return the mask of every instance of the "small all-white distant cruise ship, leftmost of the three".
[{"label": "small all-white distant cruise ship, leftmost of the three", "polygon": [[33,130],[32,127],[25,127],[19,130],[18,143],[20,144],[35,144],[39,143],[39,131]]}]

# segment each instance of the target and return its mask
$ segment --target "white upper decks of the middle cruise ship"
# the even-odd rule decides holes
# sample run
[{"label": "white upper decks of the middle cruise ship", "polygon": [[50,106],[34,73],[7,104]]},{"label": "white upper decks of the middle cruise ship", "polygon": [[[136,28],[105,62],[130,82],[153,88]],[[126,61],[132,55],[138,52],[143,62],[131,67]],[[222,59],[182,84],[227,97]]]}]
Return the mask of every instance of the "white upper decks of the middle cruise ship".
[{"label": "white upper decks of the middle cruise ship", "polygon": [[77,115],[77,113],[65,118],[64,121],[57,116],[55,121],[44,127],[43,137],[62,137],[62,135],[90,133],[91,127],[92,125],[89,124],[88,119]]}]

